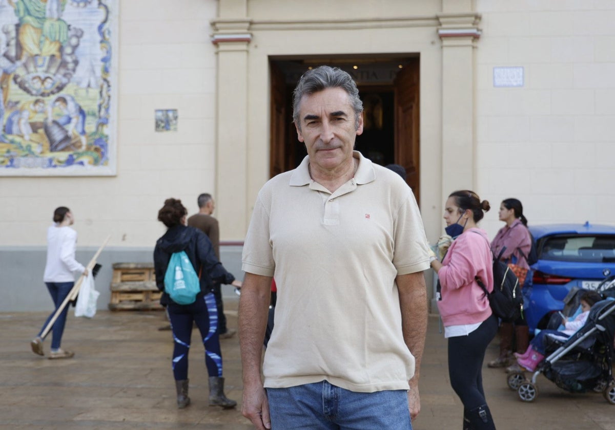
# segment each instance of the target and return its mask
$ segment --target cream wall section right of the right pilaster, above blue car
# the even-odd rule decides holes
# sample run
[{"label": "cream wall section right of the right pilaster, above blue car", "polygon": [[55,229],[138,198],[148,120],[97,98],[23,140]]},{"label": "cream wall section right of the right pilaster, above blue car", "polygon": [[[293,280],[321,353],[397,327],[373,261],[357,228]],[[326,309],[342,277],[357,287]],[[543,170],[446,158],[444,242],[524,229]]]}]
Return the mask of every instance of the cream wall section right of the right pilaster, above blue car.
[{"label": "cream wall section right of the right pilaster, above blue car", "polygon": [[[615,2],[476,3],[479,191],[494,211],[520,198],[534,224],[614,224]],[[525,85],[494,88],[494,66],[523,67]]]}]

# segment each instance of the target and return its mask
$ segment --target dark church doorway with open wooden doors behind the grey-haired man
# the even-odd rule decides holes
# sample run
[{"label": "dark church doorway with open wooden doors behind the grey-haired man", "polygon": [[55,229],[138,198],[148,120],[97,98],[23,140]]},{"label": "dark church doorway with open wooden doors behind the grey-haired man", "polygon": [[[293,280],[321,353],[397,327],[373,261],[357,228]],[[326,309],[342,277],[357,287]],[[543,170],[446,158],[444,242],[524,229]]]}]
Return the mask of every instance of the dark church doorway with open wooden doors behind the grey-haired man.
[{"label": "dark church doorway with open wooden doors behind the grey-haired man", "polygon": [[308,68],[327,64],[349,72],[363,101],[363,134],[355,148],[379,165],[402,165],[419,201],[419,58],[272,58],[270,174],[292,170],[307,155],[292,122],[292,92]]}]

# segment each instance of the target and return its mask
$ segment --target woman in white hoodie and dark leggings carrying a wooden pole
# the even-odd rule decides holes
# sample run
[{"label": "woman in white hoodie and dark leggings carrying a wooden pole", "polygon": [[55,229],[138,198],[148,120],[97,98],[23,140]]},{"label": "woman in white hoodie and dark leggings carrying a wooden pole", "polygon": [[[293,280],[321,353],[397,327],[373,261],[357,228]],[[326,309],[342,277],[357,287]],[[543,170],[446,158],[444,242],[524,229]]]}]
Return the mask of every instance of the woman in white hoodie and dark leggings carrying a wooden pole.
[{"label": "woman in white hoodie and dark leggings carrying a wooden pole", "polygon": [[[74,273],[87,275],[87,268],[75,260],[75,248],[77,246],[77,232],[69,225],[73,225],[74,216],[70,209],[60,206],[54,211],[54,225],[47,229],[47,264],[43,281],[47,285],[55,309],[43,324],[38,336],[30,342],[34,354],[45,355],[42,349],[42,331],[55,315],[58,307],[64,302],[68,293],[74,286]],[[50,359],[71,358],[74,353],[60,348],[62,334],[66,324],[68,307],[54,322],[52,327],[52,340]]]}]

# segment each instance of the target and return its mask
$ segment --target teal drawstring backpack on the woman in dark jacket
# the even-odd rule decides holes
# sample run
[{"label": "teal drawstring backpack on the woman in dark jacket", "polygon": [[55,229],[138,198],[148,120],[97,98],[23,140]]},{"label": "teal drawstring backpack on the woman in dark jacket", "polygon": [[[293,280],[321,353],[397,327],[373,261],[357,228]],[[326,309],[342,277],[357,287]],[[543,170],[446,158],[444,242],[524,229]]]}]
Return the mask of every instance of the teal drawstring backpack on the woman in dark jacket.
[{"label": "teal drawstring backpack on the woman in dark jacket", "polygon": [[197,276],[185,251],[173,252],[164,274],[164,291],[178,305],[194,303],[200,292]]}]

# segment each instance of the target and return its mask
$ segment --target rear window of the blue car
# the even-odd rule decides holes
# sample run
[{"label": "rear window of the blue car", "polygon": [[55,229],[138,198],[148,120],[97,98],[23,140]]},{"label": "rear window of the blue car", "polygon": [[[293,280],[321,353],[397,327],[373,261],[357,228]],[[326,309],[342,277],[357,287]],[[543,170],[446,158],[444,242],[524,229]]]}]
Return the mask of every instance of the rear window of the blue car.
[{"label": "rear window of the blue car", "polygon": [[539,255],[543,260],[615,261],[615,236],[553,236],[546,238]]}]

